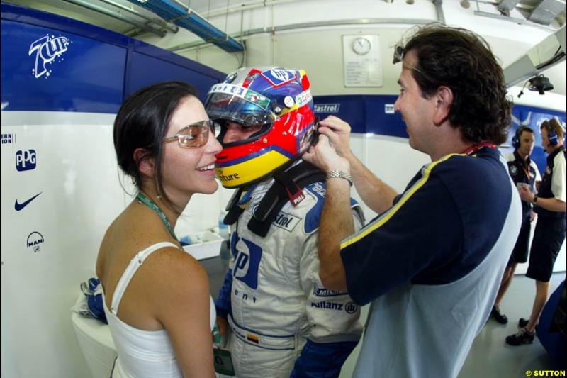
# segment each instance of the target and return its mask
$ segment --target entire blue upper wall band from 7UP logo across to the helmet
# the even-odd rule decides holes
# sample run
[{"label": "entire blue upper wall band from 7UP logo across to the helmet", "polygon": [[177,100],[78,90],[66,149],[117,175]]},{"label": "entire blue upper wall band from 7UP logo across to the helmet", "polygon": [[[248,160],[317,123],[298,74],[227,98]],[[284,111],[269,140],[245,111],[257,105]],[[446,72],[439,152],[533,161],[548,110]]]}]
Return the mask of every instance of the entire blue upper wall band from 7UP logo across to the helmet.
[{"label": "entire blue upper wall band from 7UP logo across to the helmet", "polygon": [[81,21],[1,4],[4,111],[116,113],[133,91],[184,80],[199,91],[223,72]]}]

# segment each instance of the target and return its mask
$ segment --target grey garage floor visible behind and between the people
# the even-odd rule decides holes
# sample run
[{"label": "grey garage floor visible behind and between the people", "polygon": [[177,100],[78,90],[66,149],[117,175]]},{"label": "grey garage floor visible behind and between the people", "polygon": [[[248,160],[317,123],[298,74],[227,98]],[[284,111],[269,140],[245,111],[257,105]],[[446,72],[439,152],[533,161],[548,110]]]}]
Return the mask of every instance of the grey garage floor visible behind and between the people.
[{"label": "grey garage floor visible behind and between the people", "polygon": [[[225,259],[217,257],[201,261],[204,262],[203,265],[206,265],[210,278],[210,292],[213,297],[218,294],[218,289],[220,289],[228,267],[228,254],[225,253],[225,255],[227,255]],[[553,274],[550,294],[563,282],[565,277],[565,272]],[[502,325],[492,318],[488,319],[485,327],[474,341],[458,378],[520,378],[527,377],[526,372],[528,370],[533,372],[534,370],[552,369],[551,360],[537,338],[532,345],[512,347],[505,343],[506,336],[517,331],[517,320],[529,316],[534,296],[534,281],[525,277],[524,274],[515,275],[501,306],[510,321],[506,325]],[[362,308],[361,320],[366,320],[368,307]],[[345,362],[340,378],[352,376],[359,348],[360,343]]]}]

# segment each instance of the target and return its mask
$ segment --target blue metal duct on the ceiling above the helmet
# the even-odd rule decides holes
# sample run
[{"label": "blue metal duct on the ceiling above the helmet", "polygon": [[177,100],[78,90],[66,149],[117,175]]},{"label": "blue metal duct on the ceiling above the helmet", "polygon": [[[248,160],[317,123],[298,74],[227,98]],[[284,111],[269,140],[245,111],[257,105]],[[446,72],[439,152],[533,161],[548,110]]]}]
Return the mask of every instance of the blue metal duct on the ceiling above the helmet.
[{"label": "blue metal duct on the ceiling above the helmet", "polygon": [[165,21],[174,23],[176,26],[186,28],[203,38],[208,43],[227,52],[237,52],[244,50],[242,43],[230,37],[227,33],[220,31],[218,28],[209,23],[198,13],[191,11],[184,4],[176,0],[128,0],[133,4],[142,6],[143,8],[157,14]]}]

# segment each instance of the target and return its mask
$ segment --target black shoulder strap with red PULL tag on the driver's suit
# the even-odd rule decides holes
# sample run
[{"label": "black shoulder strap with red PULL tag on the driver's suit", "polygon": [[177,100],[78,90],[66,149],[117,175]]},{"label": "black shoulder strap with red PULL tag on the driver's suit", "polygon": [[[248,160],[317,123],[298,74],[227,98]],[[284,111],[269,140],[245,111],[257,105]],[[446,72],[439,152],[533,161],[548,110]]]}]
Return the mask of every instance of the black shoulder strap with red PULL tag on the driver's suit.
[{"label": "black shoulder strap with red PULL tag on the driver's suit", "polygon": [[[259,236],[266,236],[274,217],[288,201],[298,204],[305,198],[303,188],[314,182],[324,182],[325,173],[308,162],[294,165],[274,176],[274,184],[254,210],[248,229]],[[295,205],[294,205],[295,206]]]}]

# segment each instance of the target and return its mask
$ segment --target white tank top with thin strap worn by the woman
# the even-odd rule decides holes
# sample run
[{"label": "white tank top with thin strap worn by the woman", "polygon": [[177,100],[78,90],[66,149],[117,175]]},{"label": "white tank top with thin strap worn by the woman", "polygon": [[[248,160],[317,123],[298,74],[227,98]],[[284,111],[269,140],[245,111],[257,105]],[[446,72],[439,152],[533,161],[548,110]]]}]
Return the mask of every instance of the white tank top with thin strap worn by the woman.
[{"label": "white tank top with thin strap worn by the woman", "polygon": [[[137,269],[152,252],[164,247],[179,248],[173,243],[162,242],[150,245],[145,250],[138,252],[118,281],[110,310],[106,306],[106,300],[103,300],[108,326],[111,329],[111,335],[118,353],[118,359],[113,370],[113,378],[183,377],[167,330],[140,330],[133,326],[128,326],[128,324],[116,316],[120,299],[122,299],[130,279],[132,279]],[[213,299],[210,298],[211,330],[215,326],[215,319],[215,304]]]}]

